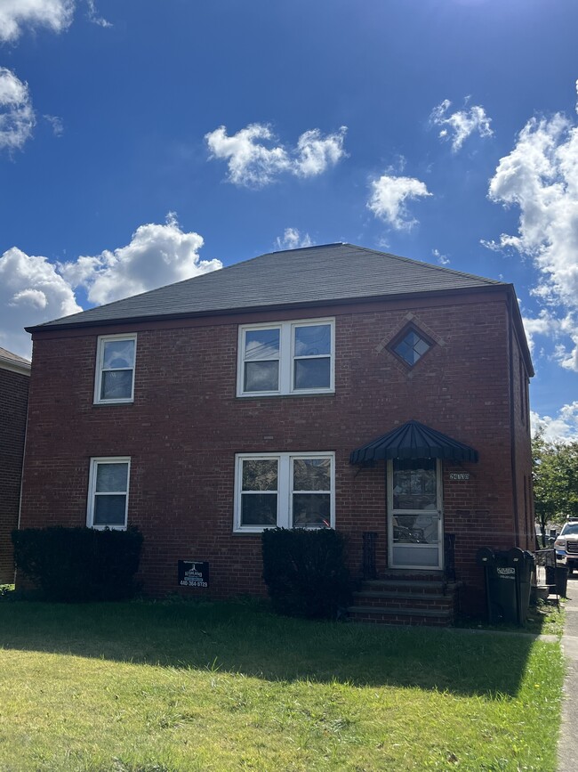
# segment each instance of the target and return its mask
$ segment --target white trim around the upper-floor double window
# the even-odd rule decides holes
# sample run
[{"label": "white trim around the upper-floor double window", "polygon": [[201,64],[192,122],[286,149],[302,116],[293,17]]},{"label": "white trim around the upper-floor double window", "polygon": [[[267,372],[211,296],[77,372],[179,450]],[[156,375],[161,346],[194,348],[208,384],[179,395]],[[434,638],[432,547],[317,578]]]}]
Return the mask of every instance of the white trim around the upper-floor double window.
[{"label": "white trim around the upper-floor double window", "polygon": [[[308,325],[328,324],[331,330],[331,346],[329,354],[320,355],[323,359],[329,357],[329,386],[312,389],[293,388],[294,370],[294,335],[297,327]],[[279,330],[279,388],[275,391],[245,392],[245,332],[252,329],[278,329]],[[237,397],[268,397],[284,394],[333,394],[335,391],[335,319],[299,319],[291,321],[277,321],[266,324],[244,324],[239,326],[237,355]],[[297,357],[308,359],[311,357]]]}]

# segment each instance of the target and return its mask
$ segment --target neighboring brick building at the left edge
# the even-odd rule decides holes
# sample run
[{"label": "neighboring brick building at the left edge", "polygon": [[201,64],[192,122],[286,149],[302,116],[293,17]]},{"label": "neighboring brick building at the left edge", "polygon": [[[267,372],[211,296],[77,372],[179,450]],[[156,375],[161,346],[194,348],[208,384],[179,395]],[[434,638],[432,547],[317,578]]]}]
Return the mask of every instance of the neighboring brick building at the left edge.
[{"label": "neighboring brick building at the left edge", "polygon": [[14,581],[11,533],[18,527],[30,362],[0,348],[0,584]]}]

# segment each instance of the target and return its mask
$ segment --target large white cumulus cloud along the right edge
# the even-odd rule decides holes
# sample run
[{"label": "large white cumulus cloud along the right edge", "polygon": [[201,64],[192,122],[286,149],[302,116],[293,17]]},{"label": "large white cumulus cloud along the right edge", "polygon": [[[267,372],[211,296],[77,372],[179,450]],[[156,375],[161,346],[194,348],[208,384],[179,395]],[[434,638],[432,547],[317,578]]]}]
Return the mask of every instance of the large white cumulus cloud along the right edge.
[{"label": "large white cumulus cloud along the right edge", "polygon": [[534,295],[548,309],[537,323],[566,338],[554,358],[578,371],[578,127],[559,113],[531,118],[500,160],[488,197],[518,207],[518,232],[483,243],[533,261]]}]

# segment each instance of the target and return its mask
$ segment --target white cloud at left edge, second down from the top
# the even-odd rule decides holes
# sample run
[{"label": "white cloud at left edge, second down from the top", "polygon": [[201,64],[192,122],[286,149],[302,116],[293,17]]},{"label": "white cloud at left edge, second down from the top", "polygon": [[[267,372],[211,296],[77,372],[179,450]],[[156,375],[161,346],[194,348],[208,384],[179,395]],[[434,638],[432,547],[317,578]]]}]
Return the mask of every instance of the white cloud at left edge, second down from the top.
[{"label": "white cloud at left edge, second down from the top", "polygon": [[0,67],[0,150],[19,150],[34,125],[28,85],[12,70]]}]

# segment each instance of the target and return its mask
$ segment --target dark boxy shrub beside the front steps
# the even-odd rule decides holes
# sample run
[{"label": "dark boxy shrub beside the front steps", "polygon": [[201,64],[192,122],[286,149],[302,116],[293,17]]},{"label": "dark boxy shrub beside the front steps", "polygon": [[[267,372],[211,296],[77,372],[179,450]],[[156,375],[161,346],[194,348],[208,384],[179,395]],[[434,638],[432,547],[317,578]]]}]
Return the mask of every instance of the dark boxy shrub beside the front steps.
[{"label": "dark boxy shrub beside the front steps", "polygon": [[273,607],[288,616],[336,618],[349,605],[345,540],[333,529],[263,532],[263,579]]}]

